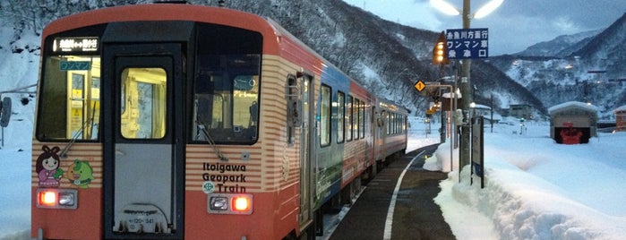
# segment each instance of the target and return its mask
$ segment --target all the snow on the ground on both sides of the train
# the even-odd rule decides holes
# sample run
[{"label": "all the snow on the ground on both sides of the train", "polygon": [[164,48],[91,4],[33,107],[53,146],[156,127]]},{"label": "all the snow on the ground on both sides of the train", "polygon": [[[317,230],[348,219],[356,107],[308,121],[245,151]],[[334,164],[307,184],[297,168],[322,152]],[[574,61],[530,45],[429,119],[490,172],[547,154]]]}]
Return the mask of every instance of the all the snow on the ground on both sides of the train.
[{"label": "all the snow on the ground on both sides of the train", "polygon": [[[8,32],[0,28],[2,36]],[[22,37],[16,45],[37,42]],[[39,56],[13,54],[0,38],[0,92],[35,83]],[[36,53],[36,52],[35,52]],[[31,89],[30,89],[31,90]],[[4,93],[13,115],[0,147],[0,239],[30,236],[30,163],[34,100]],[[435,117],[436,118],[436,117]],[[425,134],[423,120],[411,118],[408,150],[439,141],[437,123]],[[485,127],[485,188],[469,168],[460,172],[450,141],[426,160],[425,168],[449,172],[436,198],[458,239],[626,239],[626,133],[599,133],[587,144],[562,145],[549,138],[549,124],[527,122]],[[515,134],[513,134],[515,133]],[[0,141],[3,142],[3,141]],[[455,161],[450,171],[450,158]]]}]

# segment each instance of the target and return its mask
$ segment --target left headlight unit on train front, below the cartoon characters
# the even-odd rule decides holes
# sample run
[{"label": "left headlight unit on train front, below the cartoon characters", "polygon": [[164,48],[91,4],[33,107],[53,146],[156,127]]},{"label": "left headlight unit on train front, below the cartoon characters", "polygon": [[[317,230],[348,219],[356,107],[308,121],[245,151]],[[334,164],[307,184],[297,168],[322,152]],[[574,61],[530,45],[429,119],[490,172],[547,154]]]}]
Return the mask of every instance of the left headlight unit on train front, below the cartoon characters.
[{"label": "left headlight unit on train front, below the cartoon characters", "polygon": [[76,189],[39,188],[37,207],[41,209],[70,209],[78,207],[78,191]]}]

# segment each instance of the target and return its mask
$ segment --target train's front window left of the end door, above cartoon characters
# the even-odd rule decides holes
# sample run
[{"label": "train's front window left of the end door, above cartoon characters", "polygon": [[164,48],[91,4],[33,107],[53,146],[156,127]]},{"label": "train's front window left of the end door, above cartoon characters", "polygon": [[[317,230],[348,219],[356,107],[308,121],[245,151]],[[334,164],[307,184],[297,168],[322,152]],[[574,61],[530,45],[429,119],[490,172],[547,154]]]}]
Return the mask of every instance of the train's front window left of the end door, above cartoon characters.
[{"label": "train's front window left of the end door, above cartoon characters", "polygon": [[36,137],[96,141],[100,115],[100,57],[45,56]]}]

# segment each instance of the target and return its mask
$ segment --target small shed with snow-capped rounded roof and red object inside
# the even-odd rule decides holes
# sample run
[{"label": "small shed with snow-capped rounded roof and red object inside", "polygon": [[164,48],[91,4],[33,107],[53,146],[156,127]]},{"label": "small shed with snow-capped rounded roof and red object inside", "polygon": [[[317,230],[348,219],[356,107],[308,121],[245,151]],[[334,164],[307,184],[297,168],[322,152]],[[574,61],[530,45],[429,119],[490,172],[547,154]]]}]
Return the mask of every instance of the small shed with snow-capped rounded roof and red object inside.
[{"label": "small shed with snow-capped rounded roof and red object inside", "polygon": [[597,107],[570,101],[548,108],[550,137],[557,143],[587,143],[597,134]]}]

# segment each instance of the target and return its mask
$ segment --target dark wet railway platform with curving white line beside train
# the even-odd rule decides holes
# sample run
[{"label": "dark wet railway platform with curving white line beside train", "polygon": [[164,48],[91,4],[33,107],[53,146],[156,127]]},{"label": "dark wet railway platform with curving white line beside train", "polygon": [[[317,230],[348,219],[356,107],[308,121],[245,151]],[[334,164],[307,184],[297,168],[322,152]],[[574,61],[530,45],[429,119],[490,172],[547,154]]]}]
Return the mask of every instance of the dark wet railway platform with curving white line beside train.
[{"label": "dark wet railway platform with curving white line beside train", "polygon": [[455,239],[433,201],[447,174],[422,168],[424,155],[436,148],[437,144],[414,150],[383,168],[328,239]]}]

